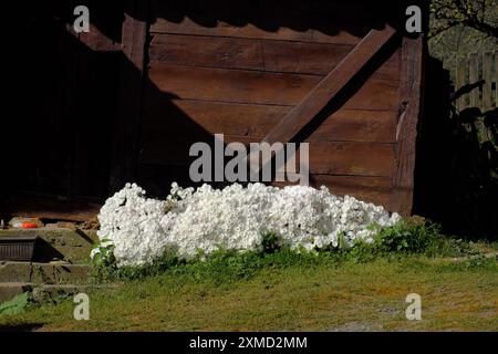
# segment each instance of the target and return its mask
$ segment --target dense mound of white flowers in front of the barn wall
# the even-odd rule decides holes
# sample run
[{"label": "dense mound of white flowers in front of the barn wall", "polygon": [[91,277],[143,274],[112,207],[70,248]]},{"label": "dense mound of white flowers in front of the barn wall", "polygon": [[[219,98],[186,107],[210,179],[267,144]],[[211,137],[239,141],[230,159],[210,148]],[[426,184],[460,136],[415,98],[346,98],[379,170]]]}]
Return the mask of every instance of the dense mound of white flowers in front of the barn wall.
[{"label": "dense mound of white flowers in front of the barn wall", "polygon": [[[172,210],[166,212],[167,208]],[[222,190],[209,185],[194,190],[174,184],[168,200],[162,201],[146,198],[136,185],[126,185],[102,208],[98,237],[114,243],[120,266],[138,266],[167,248],[184,258],[219,247],[251,250],[270,231],[293,249],[336,247],[340,235],[347,244],[356,239],[369,242],[374,232],[369,226],[392,226],[398,219],[383,207],[331,195],[325,187],[235,184]]]}]

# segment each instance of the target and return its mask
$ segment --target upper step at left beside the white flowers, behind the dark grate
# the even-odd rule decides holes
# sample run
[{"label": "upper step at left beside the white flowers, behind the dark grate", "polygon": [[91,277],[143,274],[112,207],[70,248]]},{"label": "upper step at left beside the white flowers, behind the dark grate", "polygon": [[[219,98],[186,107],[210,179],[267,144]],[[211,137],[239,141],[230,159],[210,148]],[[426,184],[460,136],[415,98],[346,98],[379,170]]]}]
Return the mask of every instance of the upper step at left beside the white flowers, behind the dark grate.
[{"label": "upper step at left beside the white flowers, behind the dark grate", "polygon": [[54,259],[71,263],[90,259],[90,251],[98,240],[96,231],[71,228],[43,227],[38,229],[0,230],[0,238],[38,236],[34,261],[49,262]]}]

